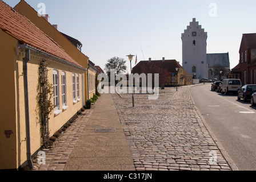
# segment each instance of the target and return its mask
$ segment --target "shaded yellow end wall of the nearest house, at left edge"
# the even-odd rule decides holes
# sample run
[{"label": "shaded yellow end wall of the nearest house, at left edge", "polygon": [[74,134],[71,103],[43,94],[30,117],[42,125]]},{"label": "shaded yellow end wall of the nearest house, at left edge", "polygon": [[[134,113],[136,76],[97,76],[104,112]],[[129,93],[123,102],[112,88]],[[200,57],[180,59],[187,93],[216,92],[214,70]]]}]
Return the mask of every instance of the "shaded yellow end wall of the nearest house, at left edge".
[{"label": "shaded yellow end wall of the nearest house, at left edge", "polygon": [[[0,169],[15,168],[17,135],[15,119],[14,53],[17,40],[0,28]],[[11,132],[9,138],[5,132]]]}]

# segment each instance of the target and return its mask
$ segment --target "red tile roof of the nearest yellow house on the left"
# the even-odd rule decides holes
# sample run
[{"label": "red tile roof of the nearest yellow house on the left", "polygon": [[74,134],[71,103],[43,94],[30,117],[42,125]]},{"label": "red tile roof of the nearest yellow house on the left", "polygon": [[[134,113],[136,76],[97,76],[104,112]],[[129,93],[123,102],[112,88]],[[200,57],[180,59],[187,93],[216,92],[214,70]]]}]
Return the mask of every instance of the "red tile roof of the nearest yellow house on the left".
[{"label": "red tile roof of the nearest yellow house on the left", "polygon": [[67,55],[64,49],[54,42],[53,39],[2,0],[0,0],[0,28],[7,34],[18,39],[22,44],[34,47],[83,68]]}]

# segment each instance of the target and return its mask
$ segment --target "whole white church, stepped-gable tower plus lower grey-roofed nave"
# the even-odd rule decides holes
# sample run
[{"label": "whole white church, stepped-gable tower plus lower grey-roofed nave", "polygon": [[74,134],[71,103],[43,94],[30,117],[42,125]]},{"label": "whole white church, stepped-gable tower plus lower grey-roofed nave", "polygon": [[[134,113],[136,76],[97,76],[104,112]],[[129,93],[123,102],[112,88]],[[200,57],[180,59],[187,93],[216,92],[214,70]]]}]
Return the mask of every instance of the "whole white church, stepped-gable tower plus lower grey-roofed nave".
[{"label": "whole white church, stepped-gable tower plus lower grey-roofed nave", "polygon": [[207,32],[193,18],[181,36],[182,39],[182,66],[195,79],[214,78],[215,64],[221,64],[230,70],[229,52],[206,53]]}]

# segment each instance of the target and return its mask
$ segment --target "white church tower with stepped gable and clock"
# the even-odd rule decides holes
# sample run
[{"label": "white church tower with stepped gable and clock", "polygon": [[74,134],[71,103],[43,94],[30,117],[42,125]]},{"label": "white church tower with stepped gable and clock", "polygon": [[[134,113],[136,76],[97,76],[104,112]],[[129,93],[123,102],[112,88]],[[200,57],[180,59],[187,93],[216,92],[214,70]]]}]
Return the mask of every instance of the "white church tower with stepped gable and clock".
[{"label": "white church tower with stepped gable and clock", "polygon": [[206,56],[207,32],[195,21],[190,22],[181,35],[182,39],[182,67],[194,78],[208,78]]}]

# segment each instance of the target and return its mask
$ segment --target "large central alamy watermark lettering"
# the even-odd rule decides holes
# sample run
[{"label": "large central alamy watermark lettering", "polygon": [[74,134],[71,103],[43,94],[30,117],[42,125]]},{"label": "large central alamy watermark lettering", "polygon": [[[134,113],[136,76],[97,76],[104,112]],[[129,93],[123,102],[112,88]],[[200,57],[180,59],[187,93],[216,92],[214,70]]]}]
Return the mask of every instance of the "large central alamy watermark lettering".
[{"label": "large central alamy watermark lettering", "polygon": [[[109,76],[104,73],[101,73],[97,77],[98,81],[101,83],[98,85],[99,93],[148,93],[149,100],[157,100],[159,97],[159,74],[154,74],[154,82],[153,82],[153,74],[145,74],[142,73],[139,75],[138,73],[130,74],[127,80],[127,76],[125,74],[115,75],[115,70],[110,70],[110,84],[109,84]],[[115,81],[118,83],[115,85]],[[129,85],[127,85],[129,83]],[[134,87],[135,83],[135,87]],[[153,89],[154,83],[154,89]],[[104,85],[104,86],[103,86]],[[141,85],[141,90],[139,89]],[[103,86],[103,88],[102,88]]]}]

